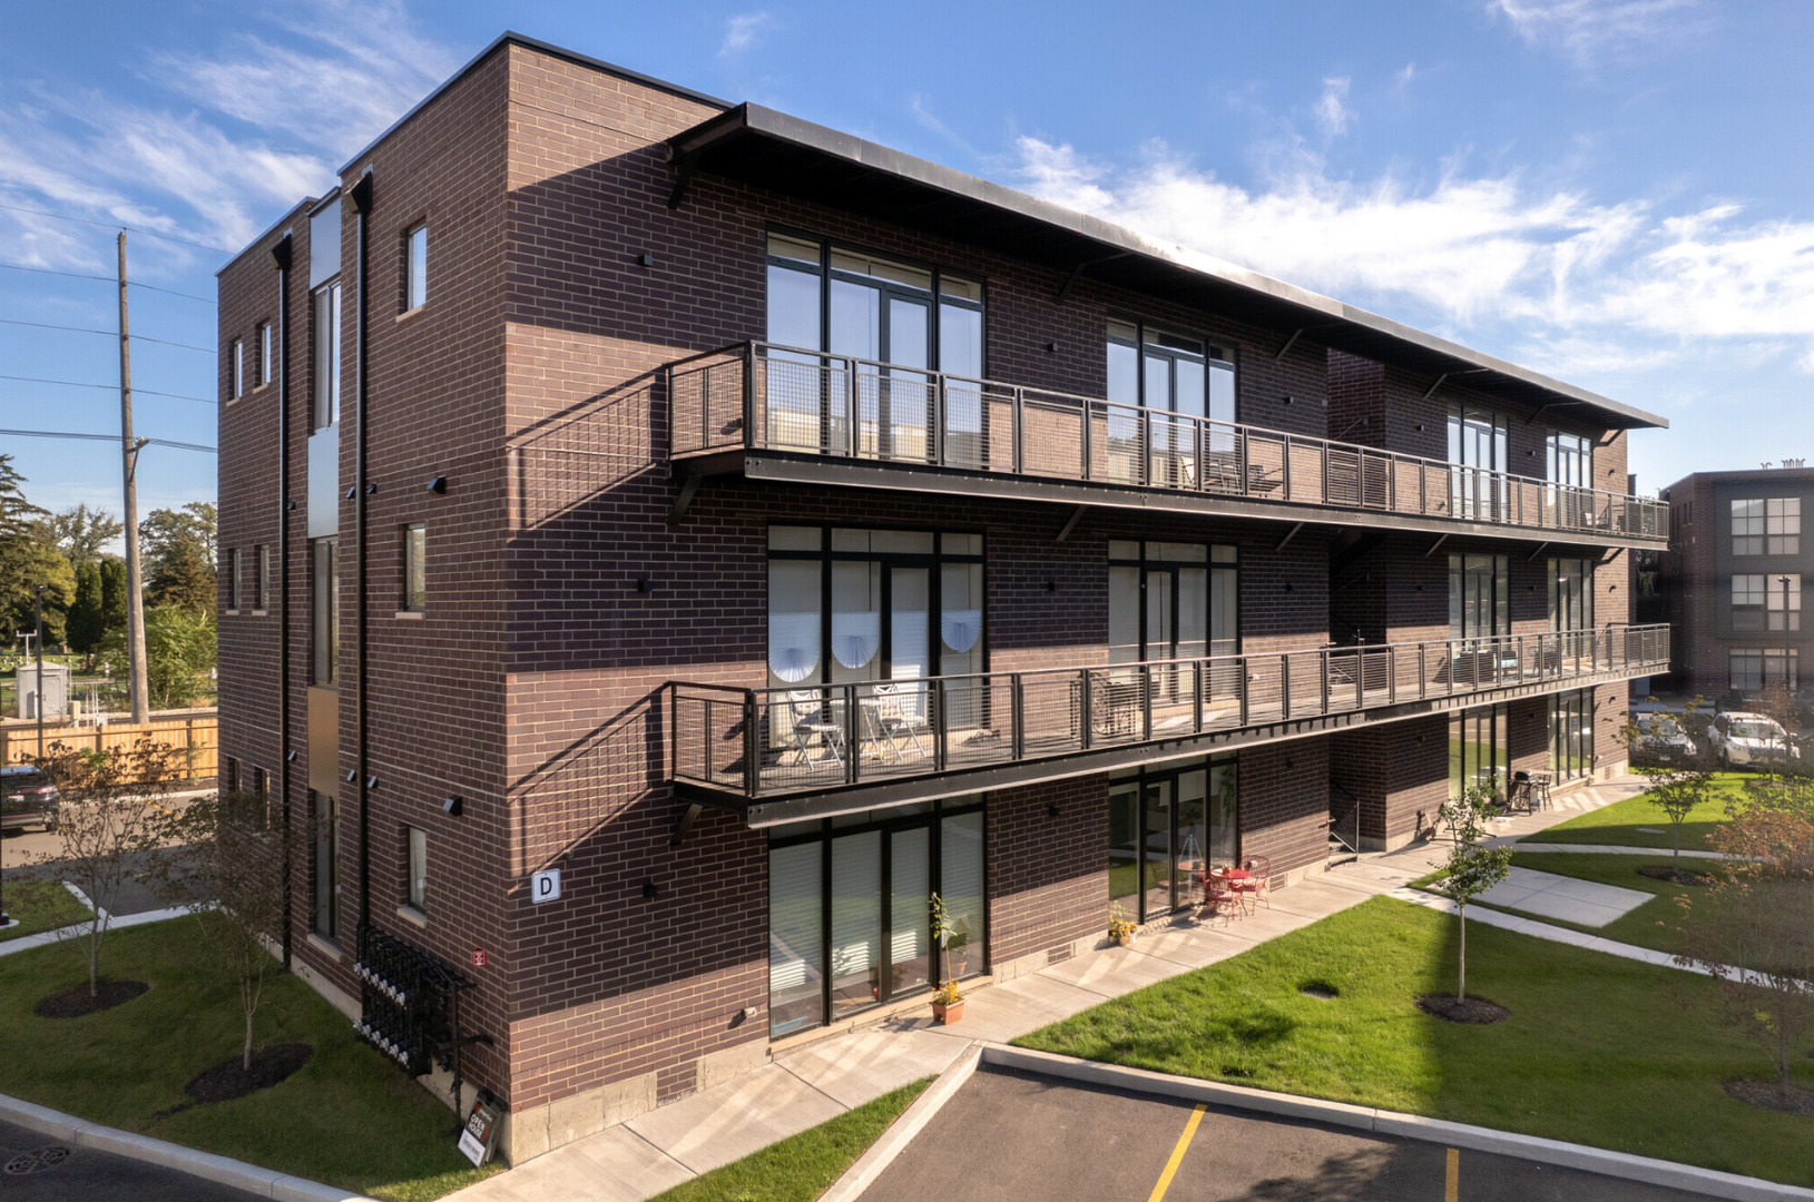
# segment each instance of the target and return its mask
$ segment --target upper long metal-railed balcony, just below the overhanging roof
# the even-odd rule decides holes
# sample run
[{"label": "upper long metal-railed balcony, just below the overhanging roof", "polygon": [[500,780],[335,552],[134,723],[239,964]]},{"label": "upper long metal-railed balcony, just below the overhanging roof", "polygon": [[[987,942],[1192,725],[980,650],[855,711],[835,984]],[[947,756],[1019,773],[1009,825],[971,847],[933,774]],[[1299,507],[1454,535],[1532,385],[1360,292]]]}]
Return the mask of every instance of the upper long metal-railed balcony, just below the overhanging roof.
[{"label": "upper long metal-railed balcony, just below the overhanging roof", "polygon": [[1665,546],[1669,506],[1259,426],[738,343],[668,366],[684,479],[740,473],[1546,542]]}]

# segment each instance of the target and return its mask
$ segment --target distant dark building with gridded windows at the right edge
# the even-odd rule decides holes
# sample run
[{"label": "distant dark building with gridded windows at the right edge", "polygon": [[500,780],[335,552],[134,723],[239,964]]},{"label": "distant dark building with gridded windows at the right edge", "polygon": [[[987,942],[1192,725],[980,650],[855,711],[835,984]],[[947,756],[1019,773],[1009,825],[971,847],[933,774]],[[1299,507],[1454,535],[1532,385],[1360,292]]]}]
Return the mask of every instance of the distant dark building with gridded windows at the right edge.
[{"label": "distant dark building with gridded windows at the right edge", "polygon": [[1696,471],[1663,490],[1669,549],[1658,598],[1674,633],[1671,685],[1709,700],[1801,685],[1801,582],[1814,575],[1814,470]]}]

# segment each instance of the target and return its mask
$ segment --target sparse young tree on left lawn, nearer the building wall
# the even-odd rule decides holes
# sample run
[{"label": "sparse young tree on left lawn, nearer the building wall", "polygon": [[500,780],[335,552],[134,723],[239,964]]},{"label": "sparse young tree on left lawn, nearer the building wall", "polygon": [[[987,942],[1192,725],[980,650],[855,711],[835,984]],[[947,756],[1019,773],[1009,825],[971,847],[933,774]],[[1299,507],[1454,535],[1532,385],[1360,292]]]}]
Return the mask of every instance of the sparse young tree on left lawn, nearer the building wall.
[{"label": "sparse young tree on left lawn, nearer the building wall", "polygon": [[278,966],[270,948],[283,937],[283,865],[294,834],[270,821],[268,798],[249,792],[198,798],[165,816],[160,834],[174,847],[161,859],[160,892],[200,919],[201,943],[238,981],[239,1068],[252,1071],[252,1021]]}]

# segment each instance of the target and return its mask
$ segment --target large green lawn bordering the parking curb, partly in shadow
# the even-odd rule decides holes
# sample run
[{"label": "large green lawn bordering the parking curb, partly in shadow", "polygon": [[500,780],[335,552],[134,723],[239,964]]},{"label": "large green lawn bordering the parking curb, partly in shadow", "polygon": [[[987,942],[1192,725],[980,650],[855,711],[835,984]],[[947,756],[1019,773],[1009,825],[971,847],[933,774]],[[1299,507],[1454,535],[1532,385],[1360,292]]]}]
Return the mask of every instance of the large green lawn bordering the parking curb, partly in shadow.
[{"label": "large green lawn bordering the parking curb, partly in shadow", "polygon": [[1721,1088],[1774,1077],[1711,981],[1471,925],[1469,992],[1513,1017],[1449,1024],[1413,997],[1455,988],[1455,937],[1453,916],[1375,897],[1016,1042],[1814,1186],[1814,1122]]}]

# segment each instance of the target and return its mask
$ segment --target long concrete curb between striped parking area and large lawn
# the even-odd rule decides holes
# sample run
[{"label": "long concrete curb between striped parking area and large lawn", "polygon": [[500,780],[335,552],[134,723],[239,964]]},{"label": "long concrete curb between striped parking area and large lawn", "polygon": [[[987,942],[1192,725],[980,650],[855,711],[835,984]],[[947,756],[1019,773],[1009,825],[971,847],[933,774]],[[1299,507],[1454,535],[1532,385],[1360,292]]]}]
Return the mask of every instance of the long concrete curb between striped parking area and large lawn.
[{"label": "long concrete curb between striped parking area and large lawn", "polygon": [[1156,1093],[1175,1097],[1186,1102],[1206,1102],[1230,1110],[1246,1110],[1286,1119],[1304,1119],[1326,1122],[1330,1126],[1357,1131],[1375,1131],[1379,1135],[1397,1135],[1402,1139],[1446,1144],[1449,1148],[1468,1148],[1471,1151],[1489,1151],[1500,1157],[1517,1157],[1556,1168],[1600,1173],[1624,1180],[1643,1182],[1647,1186],[1667,1186],[1703,1193],[1712,1198],[1732,1198],[1732,1202],[1814,1202],[1814,1189],[1799,1186],[1778,1186],[1758,1177],[1740,1177],[1703,1169],[1674,1160],[1653,1157],[1634,1157],[1605,1148],[1587,1148],[1585,1144],[1567,1144],[1564,1140],[1538,1139],[1535,1135],[1515,1135],[1477,1128],[1466,1122],[1448,1122],[1444,1119],[1424,1119],[1422,1115],[1400,1115],[1390,1110],[1370,1106],[1350,1106],[1346,1102],[1324,1102],[1312,1097],[1293,1097],[1290,1093],[1270,1093],[1266,1090],[1248,1090],[1219,1081],[1197,1081],[1194,1077],[1170,1077],[1143,1068],[1123,1068],[1119,1064],[1096,1064],[1078,1061],[1050,1052],[1029,1048],[1009,1048],[987,1044],[981,1050],[981,1062],[994,1068],[1012,1068],[1025,1073],[1041,1073],[1063,1081],[1078,1081],[1108,1090],[1128,1090],[1137,1093]]}]

